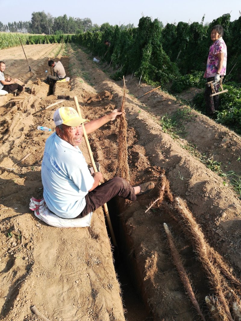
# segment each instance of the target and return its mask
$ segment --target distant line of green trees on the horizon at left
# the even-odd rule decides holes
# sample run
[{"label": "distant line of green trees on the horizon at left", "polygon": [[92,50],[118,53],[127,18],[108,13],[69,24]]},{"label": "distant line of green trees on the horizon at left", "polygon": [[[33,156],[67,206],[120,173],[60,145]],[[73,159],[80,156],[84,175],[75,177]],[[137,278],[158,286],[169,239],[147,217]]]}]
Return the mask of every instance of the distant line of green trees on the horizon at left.
[{"label": "distant line of green trees on the horizon at left", "polygon": [[[3,24],[0,22],[0,31],[2,32],[21,32],[21,33],[34,33],[34,34],[78,34],[86,31],[96,31],[108,29],[110,24],[108,22],[103,23],[101,26],[94,23],[90,18],[74,18],[67,17],[66,14],[59,17],[53,17],[50,13],[44,11],[33,12],[31,21],[19,21],[8,22]],[[122,25],[122,29],[134,28],[133,24]]]}]

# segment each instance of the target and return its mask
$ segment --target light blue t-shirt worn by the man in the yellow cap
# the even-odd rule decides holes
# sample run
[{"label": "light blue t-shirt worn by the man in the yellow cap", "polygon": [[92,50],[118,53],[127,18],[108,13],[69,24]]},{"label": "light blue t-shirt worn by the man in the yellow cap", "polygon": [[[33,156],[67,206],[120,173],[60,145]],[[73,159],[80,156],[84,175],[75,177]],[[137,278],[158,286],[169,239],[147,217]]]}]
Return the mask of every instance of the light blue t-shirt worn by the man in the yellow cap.
[{"label": "light blue t-shirt worn by the man in the yellow cap", "polygon": [[63,218],[78,216],[85,207],[85,195],[93,186],[85,158],[78,147],[56,133],[45,143],[41,177],[43,197],[49,210]]}]

